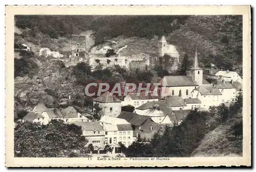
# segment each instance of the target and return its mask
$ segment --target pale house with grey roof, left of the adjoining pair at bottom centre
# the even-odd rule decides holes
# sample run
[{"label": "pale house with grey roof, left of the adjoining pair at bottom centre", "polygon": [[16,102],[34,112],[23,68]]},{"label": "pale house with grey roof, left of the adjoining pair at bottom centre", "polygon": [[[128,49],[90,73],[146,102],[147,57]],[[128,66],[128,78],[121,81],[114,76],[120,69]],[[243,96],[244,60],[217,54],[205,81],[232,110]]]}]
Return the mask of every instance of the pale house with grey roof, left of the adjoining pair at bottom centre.
[{"label": "pale house with grey roof, left of the adjoining pair at bottom centre", "polygon": [[69,124],[74,124],[81,127],[82,135],[88,140],[87,145],[92,143],[96,152],[104,149],[105,133],[99,122],[73,121],[69,122]]}]

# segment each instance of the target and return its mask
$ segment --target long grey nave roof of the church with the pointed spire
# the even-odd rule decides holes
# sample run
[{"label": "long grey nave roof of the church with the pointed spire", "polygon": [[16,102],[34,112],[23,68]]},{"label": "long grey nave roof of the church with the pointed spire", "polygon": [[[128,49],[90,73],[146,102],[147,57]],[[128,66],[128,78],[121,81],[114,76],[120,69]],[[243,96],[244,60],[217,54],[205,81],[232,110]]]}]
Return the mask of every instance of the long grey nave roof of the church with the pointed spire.
[{"label": "long grey nave roof of the church with the pointed spire", "polygon": [[[198,83],[191,76],[165,76],[162,81],[164,80],[166,87],[198,86]],[[161,86],[164,86],[162,82]]]}]

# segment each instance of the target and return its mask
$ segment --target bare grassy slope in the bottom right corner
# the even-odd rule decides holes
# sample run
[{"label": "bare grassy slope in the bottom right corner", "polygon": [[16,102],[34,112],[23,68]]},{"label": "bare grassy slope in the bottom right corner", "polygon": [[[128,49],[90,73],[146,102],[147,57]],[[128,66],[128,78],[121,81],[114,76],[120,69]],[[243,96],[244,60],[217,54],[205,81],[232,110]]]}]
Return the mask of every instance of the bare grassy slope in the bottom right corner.
[{"label": "bare grassy slope in the bottom right corner", "polygon": [[215,130],[207,133],[201,144],[191,155],[193,157],[221,157],[221,156],[242,156],[242,138],[235,139],[230,130],[243,118],[242,113],[234,114],[224,124],[219,125]]}]

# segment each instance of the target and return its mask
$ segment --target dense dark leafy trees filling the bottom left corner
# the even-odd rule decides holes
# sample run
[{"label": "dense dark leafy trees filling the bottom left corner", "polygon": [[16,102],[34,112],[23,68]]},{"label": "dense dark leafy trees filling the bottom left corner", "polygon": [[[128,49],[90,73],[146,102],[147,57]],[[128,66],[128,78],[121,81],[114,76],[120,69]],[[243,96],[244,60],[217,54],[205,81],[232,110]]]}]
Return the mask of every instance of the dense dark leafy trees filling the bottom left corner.
[{"label": "dense dark leafy trees filling the bottom left corner", "polygon": [[17,122],[14,128],[15,157],[87,157],[87,139],[81,127],[69,126],[62,120],[47,125]]}]

